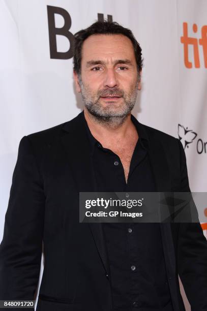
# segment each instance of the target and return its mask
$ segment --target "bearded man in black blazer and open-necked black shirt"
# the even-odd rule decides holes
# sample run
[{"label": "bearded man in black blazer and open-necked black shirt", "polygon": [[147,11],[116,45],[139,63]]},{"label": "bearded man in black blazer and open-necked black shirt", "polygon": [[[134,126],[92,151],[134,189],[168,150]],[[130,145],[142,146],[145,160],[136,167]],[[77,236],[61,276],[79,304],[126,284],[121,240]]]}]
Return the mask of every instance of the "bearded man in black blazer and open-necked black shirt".
[{"label": "bearded man in black blazer and open-necked black shirt", "polygon": [[189,192],[181,142],[141,125],[141,48],[115,22],[75,35],[74,79],[84,111],[24,136],[4,237],[0,299],[38,311],[207,310],[207,242],[199,223],[79,223],[79,192]]}]

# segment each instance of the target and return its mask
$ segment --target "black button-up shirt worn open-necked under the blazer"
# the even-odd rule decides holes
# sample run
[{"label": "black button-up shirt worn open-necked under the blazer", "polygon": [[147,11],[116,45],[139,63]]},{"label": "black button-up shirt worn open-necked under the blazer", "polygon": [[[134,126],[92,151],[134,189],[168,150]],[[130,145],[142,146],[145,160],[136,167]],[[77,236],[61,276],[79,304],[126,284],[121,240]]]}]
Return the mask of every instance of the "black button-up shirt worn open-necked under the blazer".
[{"label": "black button-up shirt worn open-necked under the blazer", "polygon": [[[126,183],[119,156],[104,148],[93,137],[84,119],[91,145],[97,192],[126,192],[126,198],[129,198],[130,192],[156,191],[147,153],[147,135],[133,115],[131,120],[139,138]],[[172,310],[160,225],[103,223],[102,226],[107,244],[114,310]]]}]

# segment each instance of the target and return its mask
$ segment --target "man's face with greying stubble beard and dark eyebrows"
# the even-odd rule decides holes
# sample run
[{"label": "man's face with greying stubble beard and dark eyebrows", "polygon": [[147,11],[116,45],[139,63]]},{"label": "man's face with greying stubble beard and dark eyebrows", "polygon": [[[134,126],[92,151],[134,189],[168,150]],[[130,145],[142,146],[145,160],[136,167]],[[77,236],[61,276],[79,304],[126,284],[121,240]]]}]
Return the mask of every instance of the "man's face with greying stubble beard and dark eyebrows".
[{"label": "man's face with greying stubble beard and dark eyebrows", "polygon": [[87,110],[98,119],[126,117],[133,109],[138,81],[131,40],[123,35],[92,35],[82,46],[81,80],[74,74]]}]

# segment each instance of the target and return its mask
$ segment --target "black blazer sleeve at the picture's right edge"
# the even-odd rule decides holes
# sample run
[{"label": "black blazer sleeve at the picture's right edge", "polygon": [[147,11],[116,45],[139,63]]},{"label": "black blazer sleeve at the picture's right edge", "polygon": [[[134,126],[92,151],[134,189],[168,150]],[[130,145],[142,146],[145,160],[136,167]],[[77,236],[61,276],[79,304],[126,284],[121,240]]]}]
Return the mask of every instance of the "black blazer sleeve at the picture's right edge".
[{"label": "black blazer sleeve at the picture's right edge", "polygon": [[[190,192],[185,151],[179,144],[181,192]],[[207,310],[207,240],[200,223],[180,223],[178,270],[191,311]]]}]

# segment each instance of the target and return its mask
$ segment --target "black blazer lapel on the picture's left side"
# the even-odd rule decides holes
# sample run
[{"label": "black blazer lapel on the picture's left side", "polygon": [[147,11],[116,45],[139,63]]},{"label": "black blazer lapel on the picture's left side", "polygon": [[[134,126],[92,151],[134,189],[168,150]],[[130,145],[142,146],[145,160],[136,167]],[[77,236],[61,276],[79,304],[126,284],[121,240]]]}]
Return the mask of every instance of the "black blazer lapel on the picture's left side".
[{"label": "black blazer lapel on the picture's left side", "polygon": [[[64,123],[63,131],[66,133],[61,137],[78,193],[96,192],[90,142],[88,141],[83,118],[82,111],[77,117]],[[88,226],[91,229],[106,275],[108,276],[109,265],[102,224],[88,223]]]}]

